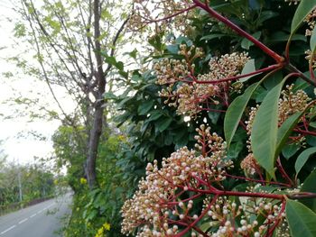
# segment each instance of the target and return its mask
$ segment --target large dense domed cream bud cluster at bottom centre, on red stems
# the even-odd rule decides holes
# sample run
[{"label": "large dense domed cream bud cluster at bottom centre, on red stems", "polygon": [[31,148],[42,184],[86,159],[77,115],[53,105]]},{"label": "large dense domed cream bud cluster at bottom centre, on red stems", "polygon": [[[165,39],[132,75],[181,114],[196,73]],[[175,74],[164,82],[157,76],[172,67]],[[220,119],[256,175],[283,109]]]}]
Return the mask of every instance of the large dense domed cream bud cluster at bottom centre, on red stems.
[{"label": "large dense domed cream bud cluster at bottom centre, on red stems", "polygon": [[198,218],[191,213],[193,200],[186,199],[185,193],[199,190],[203,182],[220,183],[226,178],[226,169],[232,166],[230,160],[225,160],[223,140],[210,134],[204,125],[199,133],[197,139],[209,150],[208,156],[184,147],[163,159],[161,169],[157,160],[147,165],[146,178],[122,208],[123,233],[138,228],[137,236],[168,236],[179,232],[178,222],[191,223]]}]

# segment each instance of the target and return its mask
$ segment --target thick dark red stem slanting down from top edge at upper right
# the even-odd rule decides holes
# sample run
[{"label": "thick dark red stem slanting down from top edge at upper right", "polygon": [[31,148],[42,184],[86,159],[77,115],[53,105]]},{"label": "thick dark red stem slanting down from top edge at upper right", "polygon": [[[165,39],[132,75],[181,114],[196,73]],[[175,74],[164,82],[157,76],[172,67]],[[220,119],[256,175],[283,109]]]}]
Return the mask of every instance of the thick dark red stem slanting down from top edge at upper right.
[{"label": "thick dark red stem slanting down from top edge at upper right", "polygon": [[271,50],[270,48],[266,47],[264,43],[256,40],[256,38],[253,37],[251,34],[245,32],[244,30],[239,28],[236,24],[230,22],[226,17],[222,16],[221,14],[218,14],[215,10],[210,8],[208,5],[209,1],[206,1],[206,3],[201,3],[200,0],[192,0],[192,1],[195,5],[199,6],[200,8],[208,12],[211,16],[218,19],[218,21],[225,23],[230,29],[234,30],[241,36],[245,37],[248,41],[252,41],[258,48],[263,50],[267,55],[272,57],[278,63],[282,63],[284,61],[284,58],[278,55],[276,52],[274,52],[274,50]]}]

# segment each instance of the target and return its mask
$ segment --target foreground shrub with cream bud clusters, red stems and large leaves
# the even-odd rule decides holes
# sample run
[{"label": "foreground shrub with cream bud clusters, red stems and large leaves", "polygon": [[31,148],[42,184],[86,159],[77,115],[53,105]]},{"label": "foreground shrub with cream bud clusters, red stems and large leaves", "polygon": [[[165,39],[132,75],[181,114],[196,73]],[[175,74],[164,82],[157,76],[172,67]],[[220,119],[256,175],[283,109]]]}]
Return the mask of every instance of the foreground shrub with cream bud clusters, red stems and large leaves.
[{"label": "foreground shrub with cream bud clusters, red stems and large leaves", "polygon": [[[148,1],[135,4],[144,2]],[[244,2],[254,7],[258,1]],[[163,7],[166,4],[154,3]],[[147,165],[146,177],[122,208],[122,232],[136,232],[137,236],[316,236],[314,162],[310,163],[312,169],[302,171],[316,153],[316,2],[290,1],[297,8],[283,55],[259,41],[259,34],[244,31],[236,19],[231,21],[234,10],[229,14],[216,11],[220,4],[229,7],[235,1],[174,3],[183,5],[159,12],[152,20],[147,11],[145,23],[171,21],[172,17],[201,9],[192,15],[208,14],[224,24],[212,29],[224,27],[237,32],[243,38],[238,42],[247,51],[237,52],[236,43],[229,53],[209,57],[204,56],[198,45],[186,41],[178,43],[177,52],[169,49],[176,56],[162,57],[154,64],[165,104],[176,107],[178,114],[190,115],[197,123],[205,112],[209,118],[212,113],[225,114],[224,129],[210,129],[202,124],[195,137],[196,150],[183,147],[161,163],[154,160]],[[246,17],[241,14],[241,19]],[[296,67],[291,43],[303,23],[307,23],[304,35],[311,37],[310,50],[306,66]],[[211,40],[213,36],[205,39]],[[255,65],[253,59],[257,64],[260,60],[253,58],[257,53],[249,50],[253,46],[265,53],[268,65]],[[207,68],[205,61],[209,64]],[[302,68],[308,70],[302,73]],[[218,134],[224,134],[225,141]],[[236,149],[233,143],[237,144],[237,134],[247,134],[248,138],[233,160],[228,153]],[[299,155],[295,154],[298,150]],[[300,224],[306,226],[303,231]]]}]

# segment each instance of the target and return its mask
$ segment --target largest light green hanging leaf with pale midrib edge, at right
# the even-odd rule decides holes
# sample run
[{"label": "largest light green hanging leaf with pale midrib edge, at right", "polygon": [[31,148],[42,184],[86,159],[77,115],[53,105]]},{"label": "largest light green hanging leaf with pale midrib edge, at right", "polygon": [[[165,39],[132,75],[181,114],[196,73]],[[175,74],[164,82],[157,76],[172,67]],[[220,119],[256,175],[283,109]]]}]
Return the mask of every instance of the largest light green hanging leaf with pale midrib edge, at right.
[{"label": "largest light green hanging leaf with pale midrib edge, at right", "polygon": [[265,96],[253,123],[251,147],[256,161],[274,178],[278,102],[286,77]]}]

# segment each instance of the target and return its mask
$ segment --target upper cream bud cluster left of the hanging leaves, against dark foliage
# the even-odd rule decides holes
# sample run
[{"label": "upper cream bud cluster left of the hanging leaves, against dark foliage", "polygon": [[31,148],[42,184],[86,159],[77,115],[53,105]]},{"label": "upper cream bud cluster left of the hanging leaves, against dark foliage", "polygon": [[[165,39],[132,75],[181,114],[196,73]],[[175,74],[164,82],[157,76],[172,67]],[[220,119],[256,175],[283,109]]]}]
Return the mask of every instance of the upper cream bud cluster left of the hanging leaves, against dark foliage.
[{"label": "upper cream bud cluster left of the hanging leaves, against dark foliage", "polygon": [[230,87],[231,81],[220,80],[237,76],[249,59],[246,53],[231,53],[219,59],[210,59],[209,73],[202,75],[195,75],[194,71],[194,60],[203,56],[199,48],[188,48],[182,44],[179,54],[184,59],[163,59],[153,67],[157,83],[167,86],[160,96],[166,98],[165,104],[177,107],[178,114],[194,117],[203,109],[227,103],[223,100],[229,90],[240,90],[240,85]]}]

